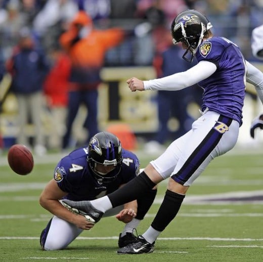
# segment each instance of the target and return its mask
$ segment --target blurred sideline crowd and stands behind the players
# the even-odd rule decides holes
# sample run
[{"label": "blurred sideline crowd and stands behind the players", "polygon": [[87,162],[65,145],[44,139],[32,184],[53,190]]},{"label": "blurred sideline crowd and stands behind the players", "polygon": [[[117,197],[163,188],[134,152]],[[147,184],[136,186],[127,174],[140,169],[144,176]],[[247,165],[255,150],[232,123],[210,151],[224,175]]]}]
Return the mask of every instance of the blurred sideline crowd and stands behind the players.
[{"label": "blurred sideline crowd and stands behind the players", "polygon": [[201,90],[130,101],[121,88],[130,76],[161,77],[192,66],[171,46],[169,31],[186,9],[204,13],[214,35],[260,63],[252,56],[251,31],[263,23],[262,0],[0,1],[0,148],[21,143],[43,155],[112,128],[134,140],[124,143],[127,149],[142,137],[148,152],[162,150],[190,128],[196,115],[188,113],[189,104],[199,104]]}]

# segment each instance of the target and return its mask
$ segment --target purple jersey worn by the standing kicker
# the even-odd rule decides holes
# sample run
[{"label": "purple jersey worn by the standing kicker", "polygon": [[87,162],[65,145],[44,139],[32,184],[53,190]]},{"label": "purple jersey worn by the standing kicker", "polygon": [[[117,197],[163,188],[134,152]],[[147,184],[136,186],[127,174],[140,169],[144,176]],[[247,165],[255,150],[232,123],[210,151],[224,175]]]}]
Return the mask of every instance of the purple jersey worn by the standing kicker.
[{"label": "purple jersey worn by the standing kicker", "polygon": [[212,37],[201,43],[196,58],[216,65],[216,71],[198,83],[204,89],[202,111],[208,108],[241,125],[246,66],[240,49],[224,37]]}]

